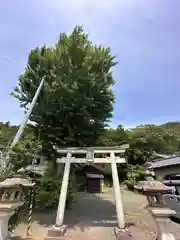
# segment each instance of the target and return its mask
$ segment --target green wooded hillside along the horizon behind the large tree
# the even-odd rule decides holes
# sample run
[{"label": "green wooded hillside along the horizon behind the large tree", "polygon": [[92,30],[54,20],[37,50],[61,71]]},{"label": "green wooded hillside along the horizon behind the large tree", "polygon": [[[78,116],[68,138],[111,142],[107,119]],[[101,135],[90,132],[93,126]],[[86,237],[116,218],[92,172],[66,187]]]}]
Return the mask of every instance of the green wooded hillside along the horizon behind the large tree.
[{"label": "green wooded hillside along the horizon behind the large tree", "polygon": [[[9,122],[0,122],[0,146],[5,148],[15,136],[19,126]],[[25,138],[32,139],[33,129],[30,125],[25,131]],[[99,138],[98,145],[120,145],[129,142],[136,148],[172,154],[180,151],[180,122],[167,122],[161,125],[140,125],[131,131],[119,125],[116,129],[107,129]]]}]

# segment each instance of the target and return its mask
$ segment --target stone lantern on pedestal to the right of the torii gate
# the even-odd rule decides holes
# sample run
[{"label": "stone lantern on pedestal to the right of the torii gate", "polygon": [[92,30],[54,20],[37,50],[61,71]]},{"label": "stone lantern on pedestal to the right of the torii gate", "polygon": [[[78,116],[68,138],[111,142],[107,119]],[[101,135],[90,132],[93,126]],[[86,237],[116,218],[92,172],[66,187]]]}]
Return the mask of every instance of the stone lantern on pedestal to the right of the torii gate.
[{"label": "stone lantern on pedestal to the right of the torii gate", "polygon": [[152,214],[157,225],[156,240],[175,240],[173,234],[168,232],[169,217],[176,212],[166,206],[163,195],[172,192],[172,188],[158,181],[147,181],[143,187],[143,192],[147,196],[149,212]]}]

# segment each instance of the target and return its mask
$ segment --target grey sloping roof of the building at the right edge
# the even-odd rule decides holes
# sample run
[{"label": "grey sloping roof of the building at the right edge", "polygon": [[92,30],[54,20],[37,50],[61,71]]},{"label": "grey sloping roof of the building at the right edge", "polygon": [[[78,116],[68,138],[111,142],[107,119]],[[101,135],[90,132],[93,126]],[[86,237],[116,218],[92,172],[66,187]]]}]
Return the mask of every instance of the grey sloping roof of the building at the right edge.
[{"label": "grey sloping roof of the building at the right edge", "polygon": [[180,164],[180,156],[174,156],[174,157],[170,157],[170,158],[166,158],[164,160],[154,162],[150,165],[149,168],[155,169],[155,168],[162,168],[162,167],[178,165],[178,164]]}]

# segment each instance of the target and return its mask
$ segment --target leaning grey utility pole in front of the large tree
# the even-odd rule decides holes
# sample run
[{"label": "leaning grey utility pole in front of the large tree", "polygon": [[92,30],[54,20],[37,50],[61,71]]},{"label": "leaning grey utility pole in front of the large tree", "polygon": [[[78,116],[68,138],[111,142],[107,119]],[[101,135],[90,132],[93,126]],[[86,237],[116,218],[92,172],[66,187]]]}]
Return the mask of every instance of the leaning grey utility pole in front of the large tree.
[{"label": "leaning grey utility pole in front of the large tree", "polygon": [[37,91],[36,91],[36,93],[35,93],[35,95],[33,97],[33,100],[32,100],[32,102],[31,102],[31,104],[30,104],[30,106],[28,108],[28,111],[27,111],[27,113],[26,113],[26,115],[24,117],[24,120],[23,120],[21,126],[19,127],[19,129],[18,129],[18,131],[17,131],[17,133],[16,133],[16,135],[15,135],[15,137],[13,139],[13,142],[12,142],[12,144],[10,146],[11,149],[21,140],[21,137],[22,137],[23,132],[24,132],[24,128],[26,127],[27,121],[29,120],[29,117],[30,117],[30,115],[31,115],[31,113],[33,111],[33,108],[34,108],[34,106],[36,104],[36,101],[37,101],[37,99],[39,97],[39,94],[40,94],[40,92],[42,90],[43,85],[44,85],[44,77],[41,80],[41,82],[39,84],[39,87],[38,87],[38,89],[37,89]]}]

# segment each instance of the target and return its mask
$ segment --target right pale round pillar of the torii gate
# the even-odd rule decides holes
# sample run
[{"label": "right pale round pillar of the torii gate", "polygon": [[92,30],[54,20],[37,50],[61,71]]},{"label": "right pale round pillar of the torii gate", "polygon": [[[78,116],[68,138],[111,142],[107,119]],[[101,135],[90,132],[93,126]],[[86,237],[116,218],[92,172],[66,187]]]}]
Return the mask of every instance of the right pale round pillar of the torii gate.
[{"label": "right pale round pillar of the torii gate", "polygon": [[122,197],[121,197],[121,191],[120,191],[120,185],[119,185],[116,157],[114,155],[114,152],[111,152],[110,158],[111,158],[112,179],[113,179],[118,227],[120,229],[124,229],[125,225],[124,225],[123,204],[122,204]]}]

